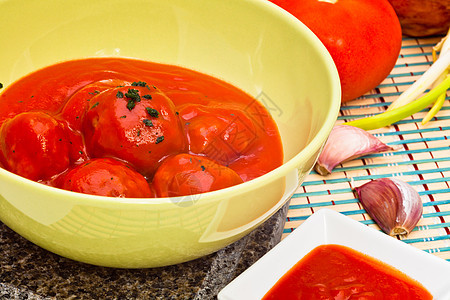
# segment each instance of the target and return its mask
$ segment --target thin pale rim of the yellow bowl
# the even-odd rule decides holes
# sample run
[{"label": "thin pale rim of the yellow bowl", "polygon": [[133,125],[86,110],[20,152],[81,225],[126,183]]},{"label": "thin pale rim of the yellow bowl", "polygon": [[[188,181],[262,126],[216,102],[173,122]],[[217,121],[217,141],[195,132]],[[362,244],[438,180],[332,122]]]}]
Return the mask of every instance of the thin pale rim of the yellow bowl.
[{"label": "thin pale rim of the yellow bowl", "polygon": [[[227,194],[228,196],[239,194],[242,189],[246,190],[254,190],[258,187],[264,186],[267,181],[275,181],[289,172],[291,172],[293,169],[295,169],[295,166],[298,165],[298,162],[302,160],[302,157],[310,157],[313,155],[314,152],[318,151],[319,148],[323,146],[323,140],[326,139],[326,137],[331,132],[331,129],[333,128],[338,112],[339,107],[341,105],[341,86],[339,81],[339,75],[336,69],[336,66],[334,64],[333,59],[331,58],[331,55],[329,54],[328,50],[325,48],[325,46],[322,44],[322,42],[319,40],[319,38],[306,26],[304,25],[300,20],[298,20],[296,17],[294,17],[292,14],[287,12],[286,10],[282,9],[278,5],[267,1],[267,0],[240,0],[239,2],[247,2],[251,5],[254,5],[256,7],[259,7],[260,9],[269,11],[274,16],[277,16],[278,18],[283,18],[286,20],[286,24],[292,27],[295,27],[297,31],[302,32],[302,34],[309,40],[312,48],[315,48],[317,52],[322,53],[321,59],[324,61],[324,64],[327,66],[328,69],[328,79],[330,81],[330,86],[332,88],[330,92],[330,98],[331,102],[328,107],[327,114],[325,116],[325,122],[320,126],[319,131],[317,134],[313,137],[313,139],[294,157],[289,159],[288,161],[284,162],[281,166],[273,169],[272,171],[259,176],[255,179],[252,179],[250,181],[234,185],[228,188],[224,188],[221,190],[196,194],[196,195],[189,195],[189,196],[200,196],[201,201],[212,201],[217,196],[220,196],[221,194]],[[62,199],[75,199],[77,198],[77,201],[88,201],[90,204],[96,203],[96,204],[108,204],[108,205],[155,205],[155,204],[173,204],[173,203],[183,203],[187,201],[188,199],[183,198],[189,198],[187,196],[178,196],[178,197],[163,197],[163,198],[116,198],[116,197],[107,197],[107,196],[98,196],[98,195],[91,195],[91,194],[83,194],[68,190],[63,190],[57,187],[48,186],[30,179],[27,179],[25,177],[22,177],[20,175],[14,174],[13,172],[7,171],[6,169],[0,168],[0,177],[7,178],[10,181],[18,181],[21,185],[29,185],[34,189],[42,190],[44,192],[49,193],[56,193],[56,196],[59,196]],[[199,201],[200,201],[199,198]]]}]

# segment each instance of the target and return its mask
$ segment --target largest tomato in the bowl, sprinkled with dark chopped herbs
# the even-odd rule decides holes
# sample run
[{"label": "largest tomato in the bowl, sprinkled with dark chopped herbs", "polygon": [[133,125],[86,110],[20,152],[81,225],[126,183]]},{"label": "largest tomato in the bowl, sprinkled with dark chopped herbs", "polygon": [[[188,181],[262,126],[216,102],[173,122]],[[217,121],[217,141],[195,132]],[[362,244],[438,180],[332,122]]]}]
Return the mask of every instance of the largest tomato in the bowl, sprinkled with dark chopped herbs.
[{"label": "largest tomato in the bowl, sprinkled with dark chopped herbs", "polygon": [[[132,99],[126,96],[130,90],[140,95],[132,109],[128,106]],[[144,98],[147,95],[151,99]],[[153,87],[111,89],[92,98],[90,105],[83,132],[91,157],[116,157],[151,177],[164,157],[185,151],[175,106]],[[157,116],[150,115],[149,109]]]}]

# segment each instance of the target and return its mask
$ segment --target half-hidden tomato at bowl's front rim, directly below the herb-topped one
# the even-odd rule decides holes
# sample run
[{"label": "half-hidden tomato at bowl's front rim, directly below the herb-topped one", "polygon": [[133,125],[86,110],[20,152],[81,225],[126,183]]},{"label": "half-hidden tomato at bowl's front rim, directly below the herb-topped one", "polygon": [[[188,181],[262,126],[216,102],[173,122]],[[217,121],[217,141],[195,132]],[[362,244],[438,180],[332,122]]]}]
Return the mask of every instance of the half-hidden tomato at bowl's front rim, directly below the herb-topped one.
[{"label": "half-hidden tomato at bowl's front rim, directly below the herb-topped one", "polygon": [[144,176],[113,158],[94,158],[71,169],[57,180],[60,188],[108,197],[151,198]]}]

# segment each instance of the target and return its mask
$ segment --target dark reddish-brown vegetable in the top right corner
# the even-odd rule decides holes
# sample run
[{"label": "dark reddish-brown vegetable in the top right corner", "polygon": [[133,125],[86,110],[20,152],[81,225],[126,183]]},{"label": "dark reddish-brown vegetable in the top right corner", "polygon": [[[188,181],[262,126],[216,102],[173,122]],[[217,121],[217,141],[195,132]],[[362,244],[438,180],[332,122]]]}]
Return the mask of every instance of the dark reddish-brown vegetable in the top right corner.
[{"label": "dark reddish-brown vegetable in the top right corner", "polygon": [[446,34],[450,27],[450,0],[389,0],[404,35]]}]

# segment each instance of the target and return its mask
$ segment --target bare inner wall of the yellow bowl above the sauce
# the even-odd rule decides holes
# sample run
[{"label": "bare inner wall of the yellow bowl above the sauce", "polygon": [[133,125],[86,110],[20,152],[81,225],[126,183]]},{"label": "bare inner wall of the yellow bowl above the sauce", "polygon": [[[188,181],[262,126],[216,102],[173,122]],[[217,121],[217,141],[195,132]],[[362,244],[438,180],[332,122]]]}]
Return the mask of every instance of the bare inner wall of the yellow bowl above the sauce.
[{"label": "bare inner wall of the yellow bowl above the sauce", "polygon": [[[285,160],[336,108],[325,48],[260,1],[3,1],[0,80],[8,85],[68,59],[125,56],[222,78],[260,100],[281,131]],[[255,6],[260,13],[249,13]],[[270,15],[270,16],[269,16]],[[49,17],[51,16],[51,17]],[[283,20],[282,20],[283,19]],[[243,30],[245,28],[245,30]],[[303,46],[308,45],[308,46]],[[330,88],[332,87],[332,88]],[[299,99],[299,97],[301,99]],[[332,102],[330,103],[330,99]]]}]

